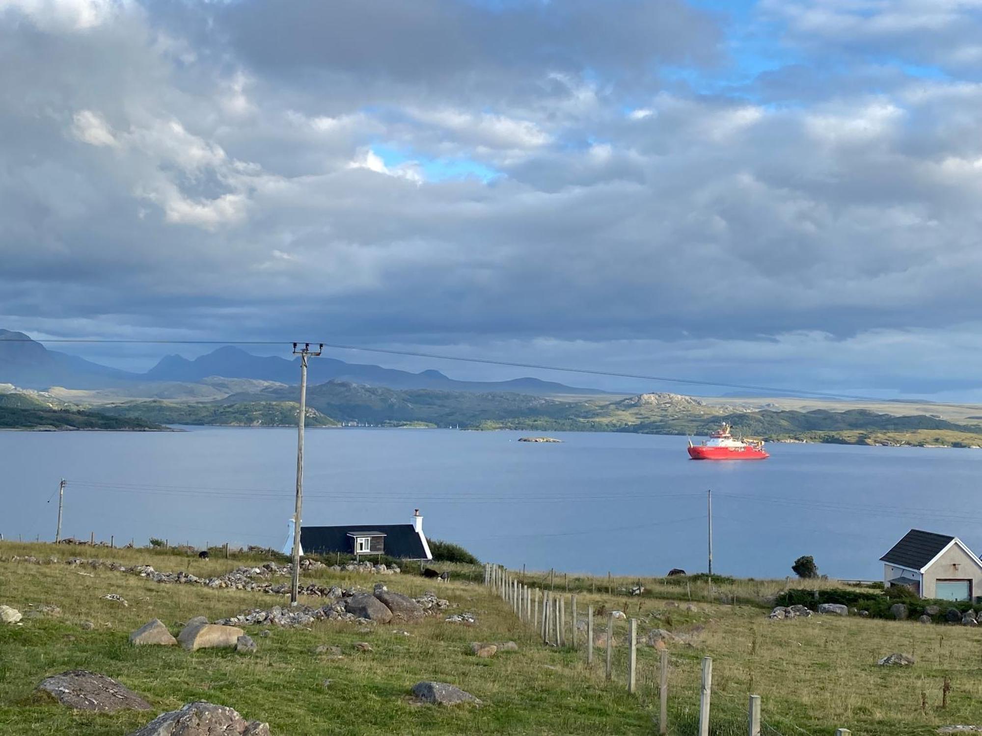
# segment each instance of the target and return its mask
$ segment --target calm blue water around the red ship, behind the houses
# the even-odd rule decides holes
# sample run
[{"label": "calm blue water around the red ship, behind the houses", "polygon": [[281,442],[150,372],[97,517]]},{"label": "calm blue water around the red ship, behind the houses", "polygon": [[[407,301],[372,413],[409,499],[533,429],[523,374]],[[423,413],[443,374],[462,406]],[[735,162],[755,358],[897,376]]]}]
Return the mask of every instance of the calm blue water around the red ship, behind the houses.
[{"label": "calm blue water around the red ship, behind the houses", "polygon": [[[306,434],[304,523],[408,522],[512,567],[663,574],[706,567],[713,490],[714,570],[820,571],[878,578],[911,527],[982,550],[982,451],[774,445],[763,462],[697,462],[685,440],[559,433],[314,429]],[[296,430],[0,433],[0,532],[117,543],[281,547],[293,513]],[[52,498],[53,496],[53,498]],[[50,501],[49,501],[50,499]]]}]

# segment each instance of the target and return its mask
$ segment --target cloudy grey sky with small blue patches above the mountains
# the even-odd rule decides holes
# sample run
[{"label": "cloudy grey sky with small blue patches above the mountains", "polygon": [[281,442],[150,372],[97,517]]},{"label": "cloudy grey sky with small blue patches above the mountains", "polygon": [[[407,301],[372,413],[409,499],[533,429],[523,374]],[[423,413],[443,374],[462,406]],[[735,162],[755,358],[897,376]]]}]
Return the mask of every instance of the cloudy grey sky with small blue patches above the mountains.
[{"label": "cloudy grey sky with small blue patches above the mountains", "polygon": [[0,0],[0,327],[982,400],[980,124],[979,0]]}]

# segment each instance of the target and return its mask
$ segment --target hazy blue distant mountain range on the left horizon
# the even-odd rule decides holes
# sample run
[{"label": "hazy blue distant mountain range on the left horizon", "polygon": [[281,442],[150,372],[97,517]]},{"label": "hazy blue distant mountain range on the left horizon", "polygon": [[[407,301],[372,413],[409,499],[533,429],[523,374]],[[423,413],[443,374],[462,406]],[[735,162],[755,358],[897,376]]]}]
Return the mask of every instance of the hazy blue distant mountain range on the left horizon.
[{"label": "hazy blue distant mountain range on the left horizon", "polygon": [[[234,379],[300,383],[300,358],[253,355],[239,347],[226,345],[192,360],[167,355],[145,373],[122,371],[99,365],[76,355],[49,350],[24,333],[0,330],[0,384],[26,389],[107,389],[146,382],[196,383],[215,376]],[[507,392],[516,394],[604,394],[536,378],[511,381],[457,381],[440,371],[411,373],[378,365],[348,363],[327,356],[311,358],[307,381],[311,385],[327,381],[348,381],[388,389],[434,389],[470,393]]]}]

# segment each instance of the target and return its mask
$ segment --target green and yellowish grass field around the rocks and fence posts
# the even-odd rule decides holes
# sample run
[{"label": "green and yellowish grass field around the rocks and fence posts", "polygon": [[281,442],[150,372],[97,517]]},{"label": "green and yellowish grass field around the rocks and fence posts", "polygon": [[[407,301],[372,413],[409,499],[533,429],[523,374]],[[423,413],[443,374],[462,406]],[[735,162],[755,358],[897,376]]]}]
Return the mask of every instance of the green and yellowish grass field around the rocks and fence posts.
[{"label": "green and yellowish grass field around the rocks and fence posts", "polygon": [[[23,626],[0,627],[0,734],[92,734],[119,736],[135,730],[154,713],[73,713],[39,701],[33,689],[46,675],[72,668],[101,672],[142,694],[155,711],[173,710],[193,700],[232,706],[248,718],[268,721],[275,736],[323,734],[644,734],[657,733],[658,653],[638,652],[638,693],[625,687],[627,653],[616,648],[615,677],[606,682],[603,653],[592,669],[585,653],[541,645],[535,632],[518,622],[511,609],[479,583],[434,586],[415,575],[376,577],[318,570],[302,582],[362,585],[379,580],[393,590],[418,595],[435,589],[469,611],[477,625],[447,623],[443,616],[413,624],[364,631],[355,624],[321,622],[311,630],[246,627],[258,653],[178,648],[132,648],[128,634],[153,617],[172,631],[194,615],[210,619],[249,607],[283,603],[276,596],[190,585],[160,585],[105,568],[75,568],[63,562],[29,564],[12,555],[42,559],[73,555],[146,562],[161,571],[186,569],[217,574],[243,564],[243,558],[207,561],[179,552],[66,549],[49,545],[0,543],[0,604],[27,613],[57,605],[58,614],[26,616]],[[252,555],[251,561],[261,561]],[[81,575],[80,572],[87,572]],[[633,579],[617,579],[615,590]],[[651,628],[690,633],[691,645],[670,645],[669,732],[694,734],[698,712],[700,659],[714,658],[714,734],[745,734],[746,697],[761,696],[764,733],[896,736],[929,734],[945,724],[982,722],[982,632],[960,626],[814,616],[769,621],[766,608],[750,603],[772,595],[785,581],[735,581],[709,593],[692,586],[645,580],[654,595],[627,598],[606,594],[606,579],[570,578],[581,610],[589,603],[619,608],[637,617],[639,639]],[[557,591],[564,590],[555,578]],[[596,590],[596,593],[591,591]],[[678,592],[674,599],[670,594]],[[117,593],[129,606],[102,600]],[[688,596],[696,610],[686,610]],[[311,600],[316,604],[317,599]],[[675,601],[682,605],[671,606]],[[739,603],[747,601],[747,603]],[[570,608],[567,608],[568,615]],[[84,630],[82,622],[95,624]],[[617,624],[623,645],[627,624]],[[598,622],[598,629],[602,624]],[[693,627],[703,627],[692,633]],[[397,632],[409,631],[411,636]],[[517,653],[489,659],[467,652],[471,641],[518,642]],[[373,652],[358,653],[366,641]],[[340,646],[345,657],[330,660],[311,653],[320,644]],[[879,657],[903,652],[917,657],[909,668],[882,668]],[[942,685],[952,691],[942,710]],[[419,680],[457,684],[484,701],[481,708],[438,709],[416,705],[409,688]],[[324,681],[330,680],[325,685]],[[922,693],[926,707],[922,710]]]}]

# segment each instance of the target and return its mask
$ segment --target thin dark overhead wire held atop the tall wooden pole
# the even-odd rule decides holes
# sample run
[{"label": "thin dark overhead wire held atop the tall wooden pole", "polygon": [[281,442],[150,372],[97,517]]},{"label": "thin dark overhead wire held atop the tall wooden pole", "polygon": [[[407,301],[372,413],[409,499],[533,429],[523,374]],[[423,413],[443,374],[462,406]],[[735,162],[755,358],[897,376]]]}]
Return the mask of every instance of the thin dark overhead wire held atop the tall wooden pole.
[{"label": "thin dark overhead wire held atop the tall wooden pole", "polygon": [[[96,338],[53,338],[50,340],[31,340],[30,338],[12,338],[4,342],[48,342],[48,343],[92,343],[92,344],[197,344],[197,345],[283,345],[293,344],[293,341],[263,341],[263,340],[103,340]],[[943,401],[928,401],[921,399],[905,398],[881,398],[877,396],[867,396],[862,394],[839,394],[833,392],[811,391],[809,389],[788,389],[775,386],[758,386],[756,384],[737,384],[724,381],[701,381],[698,379],[678,378],[671,376],[658,376],[644,373],[622,373],[618,371],[603,371],[593,368],[575,368],[571,366],[549,365],[545,363],[526,363],[514,360],[495,360],[493,358],[476,358],[464,355],[447,355],[436,352],[420,352],[416,350],[397,350],[385,347],[367,347],[364,345],[350,345],[340,342],[318,342],[324,347],[331,347],[339,350],[359,350],[362,352],[381,353],[386,355],[401,355],[406,357],[430,358],[434,360],[453,360],[463,363],[476,363],[480,365],[496,365],[508,368],[528,368],[541,371],[557,371],[560,373],[576,373],[587,376],[603,376],[607,378],[628,378],[639,381],[653,381],[658,383],[682,384],[686,386],[703,386],[716,389],[740,389],[743,391],[753,391],[769,394],[790,394],[799,396],[811,396],[815,398],[836,398],[845,400],[866,401],[870,403],[900,403],[910,406],[946,406],[962,409],[978,409],[979,404],[949,403]]]}]

